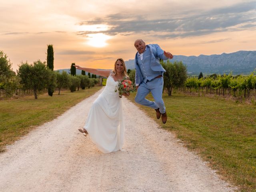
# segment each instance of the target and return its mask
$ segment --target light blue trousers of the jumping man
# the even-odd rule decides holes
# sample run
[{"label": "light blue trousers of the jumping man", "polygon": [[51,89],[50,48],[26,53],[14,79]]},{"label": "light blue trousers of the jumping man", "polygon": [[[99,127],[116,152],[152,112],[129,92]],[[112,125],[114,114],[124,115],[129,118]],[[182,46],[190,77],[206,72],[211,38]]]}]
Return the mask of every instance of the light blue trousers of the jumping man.
[{"label": "light blue trousers of the jumping man", "polygon": [[[146,83],[142,82],[137,90],[135,102],[153,109],[159,108],[160,113],[165,113],[164,101],[162,99],[163,86],[163,77],[155,78],[151,81],[147,81]],[[154,97],[154,101],[145,99],[149,92],[151,92]]]}]

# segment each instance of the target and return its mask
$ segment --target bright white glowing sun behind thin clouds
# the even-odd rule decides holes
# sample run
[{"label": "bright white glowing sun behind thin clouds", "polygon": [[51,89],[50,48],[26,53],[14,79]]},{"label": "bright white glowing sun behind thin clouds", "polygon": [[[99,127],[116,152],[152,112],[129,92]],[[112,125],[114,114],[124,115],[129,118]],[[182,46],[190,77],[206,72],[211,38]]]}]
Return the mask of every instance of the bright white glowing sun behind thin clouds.
[{"label": "bright white glowing sun behind thin clouds", "polygon": [[106,41],[110,38],[110,36],[107,36],[102,33],[88,34],[87,44],[93,47],[104,47],[108,45]]}]

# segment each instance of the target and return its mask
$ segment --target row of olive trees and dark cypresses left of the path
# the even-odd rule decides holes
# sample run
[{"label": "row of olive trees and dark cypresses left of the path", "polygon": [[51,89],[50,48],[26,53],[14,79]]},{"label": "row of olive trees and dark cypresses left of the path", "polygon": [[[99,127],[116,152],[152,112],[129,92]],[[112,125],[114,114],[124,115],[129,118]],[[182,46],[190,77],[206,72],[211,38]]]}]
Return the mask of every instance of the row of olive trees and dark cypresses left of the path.
[{"label": "row of olive trees and dark cypresses left of the path", "polygon": [[[33,92],[34,97],[38,98],[38,91],[48,90],[48,95],[52,96],[55,90],[70,89],[71,92],[79,90],[79,88],[91,88],[99,82],[96,75],[89,78],[85,75],[76,75],[62,71],[55,72],[53,70],[53,48],[48,45],[47,63],[40,60],[34,61],[32,64],[21,62],[17,70],[17,74],[12,71],[12,63],[8,56],[0,50],[0,97],[11,97],[14,94],[26,94]],[[74,67],[74,66],[73,66]]]}]

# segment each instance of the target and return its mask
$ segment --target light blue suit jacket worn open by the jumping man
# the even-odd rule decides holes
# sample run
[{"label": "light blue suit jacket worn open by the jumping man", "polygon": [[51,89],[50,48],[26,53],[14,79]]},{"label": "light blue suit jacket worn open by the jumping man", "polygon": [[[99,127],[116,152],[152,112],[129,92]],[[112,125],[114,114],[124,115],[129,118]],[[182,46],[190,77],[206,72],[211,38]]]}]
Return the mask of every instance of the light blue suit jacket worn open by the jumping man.
[{"label": "light blue suit jacket worn open by the jumping man", "polygon": [[[161,72],[165,72],[164,68],[162,67],[162,65],[159,62],[159,59],[162,60],[167,60],[168,58],[164,55],[164,50],[162,50],[160,48],[160,46],[158,44],[148,44],[146,45],[147,49],[150,49],[150,53],[151,53],[151,61],[150,61],[150,67],[153,71],[161,71]],[[137,54],[138,52],[136,52],[135,54],[135,84],[141,84],[143,81],[143,76],[140,70],[140,67],[138,65],[138,61],[137,61]]]}]

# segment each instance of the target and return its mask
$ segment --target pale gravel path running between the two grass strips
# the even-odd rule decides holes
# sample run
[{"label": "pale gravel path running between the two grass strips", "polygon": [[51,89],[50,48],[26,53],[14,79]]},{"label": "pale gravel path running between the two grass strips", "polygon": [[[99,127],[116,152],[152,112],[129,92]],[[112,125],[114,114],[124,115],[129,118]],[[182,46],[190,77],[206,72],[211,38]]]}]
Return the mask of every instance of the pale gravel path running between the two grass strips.
[{"label": "pale gravel path running between the two grass strips", "polygon": [[230,192],[206,162],[126,98],[122,151],[102,154],[81,128],[93,96],[0,154],[1,192]]}]

